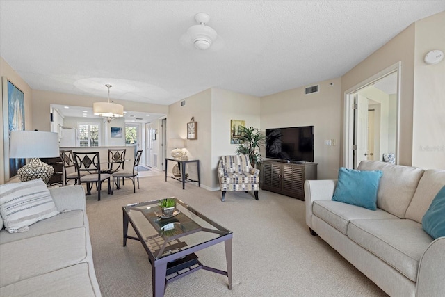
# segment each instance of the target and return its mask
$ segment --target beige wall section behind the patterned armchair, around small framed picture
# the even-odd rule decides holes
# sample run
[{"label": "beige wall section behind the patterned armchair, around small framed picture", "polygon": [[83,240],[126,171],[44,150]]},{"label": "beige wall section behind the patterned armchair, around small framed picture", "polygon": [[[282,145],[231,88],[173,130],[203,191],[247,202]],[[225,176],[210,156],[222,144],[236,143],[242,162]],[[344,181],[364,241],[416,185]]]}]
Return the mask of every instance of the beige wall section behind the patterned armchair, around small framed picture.
[{"label": "beige wall section behind the patterned armchair, around small framed picture", "polygon": [[[252,95],[211,89],[211,172],[212,188],[219,188],[218,163],[221,156],[236,154],[230,143],[230,120],[245,120],[246,127],[260,128],[260,98]],[[261,148],[264,149],[264,148]]]}]

